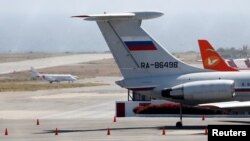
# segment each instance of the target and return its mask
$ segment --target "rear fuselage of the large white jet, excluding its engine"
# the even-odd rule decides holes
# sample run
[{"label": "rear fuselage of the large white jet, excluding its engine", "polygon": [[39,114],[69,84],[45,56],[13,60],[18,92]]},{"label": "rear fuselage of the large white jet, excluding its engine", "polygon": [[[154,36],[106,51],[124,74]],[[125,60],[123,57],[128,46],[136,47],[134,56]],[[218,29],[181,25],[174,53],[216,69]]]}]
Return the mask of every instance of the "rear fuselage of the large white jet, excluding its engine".
[{"label": "rear fuselage of the large white jet, excluding its engine", "polygon": [[[206,100],[180,100],[166,98],[157,92],[157,89],[172,88],[176,85],[203,81],[203,80],[232,80],[234,81],[235,96],[229,101],[249,101],[250,100],[250,72],[201,72],[189,73],[182,75],[171,76],[151,76],[143,78],[124,79],[118,81],[117,84],[128,89],[136,90],[141,94],[150,95],[157,99],[166,99],[175,102],[182,102],[190,105],[196,105],[204,102],[211,102]],[[145,85],[147,87],[145,87]],[[223,101],[223,100],[221,100]],[[228,101],[225,100],[225,101]],[[212,101],[215,102],[215,101]],[[218,101],[220,102],[220,100]]]}]

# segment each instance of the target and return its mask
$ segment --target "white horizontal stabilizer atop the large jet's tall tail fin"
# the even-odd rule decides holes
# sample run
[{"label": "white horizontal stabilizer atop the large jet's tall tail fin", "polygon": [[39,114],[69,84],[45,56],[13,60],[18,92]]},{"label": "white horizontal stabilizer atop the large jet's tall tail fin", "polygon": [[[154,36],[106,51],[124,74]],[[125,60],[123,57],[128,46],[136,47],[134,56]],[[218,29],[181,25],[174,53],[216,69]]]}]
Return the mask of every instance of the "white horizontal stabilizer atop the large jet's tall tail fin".
[{"label": "white horizontal stabilizer atop the large jet's tall tail fin", "polygon": [[162,16],[160,12],[128,12],[128,13],[115,13],[115,14],[95,14],[95,15],[79,15],[72,16],[73,18],[83,18],[88,21],[110,21],[110,20],[129,20],[129,19],[152,19]]}]

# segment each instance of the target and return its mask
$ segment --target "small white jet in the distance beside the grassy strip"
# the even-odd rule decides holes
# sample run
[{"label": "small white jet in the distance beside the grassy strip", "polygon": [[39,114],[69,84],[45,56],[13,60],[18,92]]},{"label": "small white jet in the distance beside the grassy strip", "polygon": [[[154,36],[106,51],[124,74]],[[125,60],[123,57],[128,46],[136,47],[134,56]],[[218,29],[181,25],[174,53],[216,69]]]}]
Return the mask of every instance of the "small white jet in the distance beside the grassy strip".
[{"label": "small white jet in the distance beside the grassy strip", "polygon": [[33,67],[31,67],[31,72],[32,72],[32,78],[44,79],[49,81],[50,83],[61,82],[61,81],[74,82],[78,78],[77,76],[71,74],[41,74],[38,71],[36,71]]}]

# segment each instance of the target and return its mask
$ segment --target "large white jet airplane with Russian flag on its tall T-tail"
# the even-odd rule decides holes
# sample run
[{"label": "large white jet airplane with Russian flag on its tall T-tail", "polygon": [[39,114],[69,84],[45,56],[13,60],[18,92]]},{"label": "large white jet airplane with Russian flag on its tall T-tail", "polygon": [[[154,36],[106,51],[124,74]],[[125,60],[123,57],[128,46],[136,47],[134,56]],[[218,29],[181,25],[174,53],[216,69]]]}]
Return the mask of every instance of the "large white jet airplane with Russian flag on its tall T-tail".
[{"label": "large white jet airplane with Russian flag on its tall T-tail", "polygon": [[215,72],[195,68],[177,59],[142,27],[142,20],[160,12],[131,12],[73,16],[96,21],[124,77],[119,86],[182,105],[250,107],[250,72]]}]

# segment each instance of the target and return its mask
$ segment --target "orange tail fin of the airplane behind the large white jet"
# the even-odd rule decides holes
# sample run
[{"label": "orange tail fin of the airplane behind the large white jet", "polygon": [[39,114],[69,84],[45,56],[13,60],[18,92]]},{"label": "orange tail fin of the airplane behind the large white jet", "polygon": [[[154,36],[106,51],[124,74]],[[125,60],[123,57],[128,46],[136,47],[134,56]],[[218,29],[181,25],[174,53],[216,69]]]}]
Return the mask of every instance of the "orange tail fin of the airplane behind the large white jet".
[{"label": "orange tail fin of the airplane behind the large white jet", "polygon": [[205,69],[216,71],[238,71],[237,68],[229,66],[207,40],[198,40],[198,42]]}]

